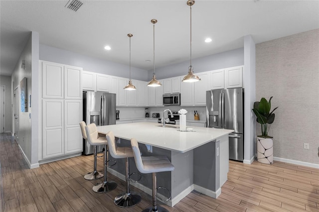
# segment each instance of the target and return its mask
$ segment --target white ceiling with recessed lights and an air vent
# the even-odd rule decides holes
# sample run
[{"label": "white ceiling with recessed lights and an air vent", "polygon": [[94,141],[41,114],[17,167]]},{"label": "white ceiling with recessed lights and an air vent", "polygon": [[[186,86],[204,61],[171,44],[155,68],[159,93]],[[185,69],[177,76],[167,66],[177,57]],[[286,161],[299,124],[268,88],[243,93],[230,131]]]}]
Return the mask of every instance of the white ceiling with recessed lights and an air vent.
[{"label": "white ceiling with recessed lights and an air vent", "polygon": [[[68,0],[0,0],[0,71],[11,75],[30,31],[40,44],[153,69],[189,60],[190,9],[186,0],[83,0],[77,12]],[[319,1],[196,0],[192,6],[192,59],[319,28]],[[211,37],[211,43],[204,39]],[[104,50],[110,45],[112,50]],[[150,60],[151,62],[146,62]]]}]

